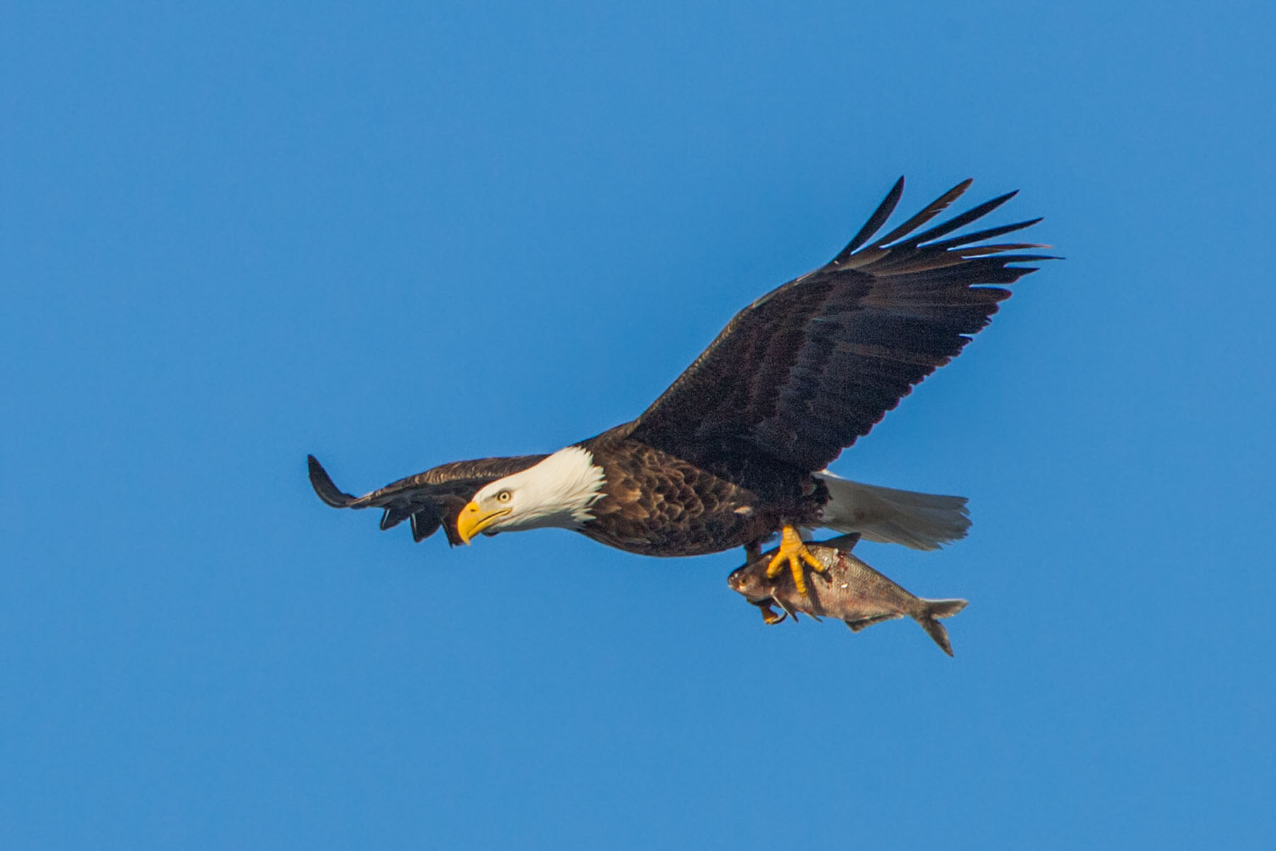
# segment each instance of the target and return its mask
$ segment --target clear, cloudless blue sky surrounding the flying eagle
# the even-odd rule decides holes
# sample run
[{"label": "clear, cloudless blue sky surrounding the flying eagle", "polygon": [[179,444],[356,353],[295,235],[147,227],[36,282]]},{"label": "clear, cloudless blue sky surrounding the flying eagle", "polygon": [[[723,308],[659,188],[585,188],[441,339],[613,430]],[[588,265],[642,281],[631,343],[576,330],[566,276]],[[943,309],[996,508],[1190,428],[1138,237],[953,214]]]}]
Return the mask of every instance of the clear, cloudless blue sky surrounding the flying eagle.
[{"label": "clear, cloudless blue sky surrounding the flying eagle", "polygon": [[[1266,847],[1268,4],[6,4],[5,847]],[[833,470],[915,625],[738,552],[322,505],[630,418],[898,175],[1068,259]]]}]

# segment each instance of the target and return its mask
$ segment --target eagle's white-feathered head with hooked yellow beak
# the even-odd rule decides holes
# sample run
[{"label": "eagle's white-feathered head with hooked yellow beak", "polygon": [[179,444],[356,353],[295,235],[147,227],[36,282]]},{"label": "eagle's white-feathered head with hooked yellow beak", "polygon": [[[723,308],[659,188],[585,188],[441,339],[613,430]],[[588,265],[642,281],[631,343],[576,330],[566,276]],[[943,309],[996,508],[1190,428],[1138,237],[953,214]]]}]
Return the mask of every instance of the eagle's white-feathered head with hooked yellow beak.
[{"label": "eagle's white-feathered head with hooked yellow beak", "polygon": [[478,532],[495,535],[546,526],[579,528],[602,495],[602,467],[581,447],[559,449],[522,472],[487,482],[461,509],[457,532],[470,544]]}]

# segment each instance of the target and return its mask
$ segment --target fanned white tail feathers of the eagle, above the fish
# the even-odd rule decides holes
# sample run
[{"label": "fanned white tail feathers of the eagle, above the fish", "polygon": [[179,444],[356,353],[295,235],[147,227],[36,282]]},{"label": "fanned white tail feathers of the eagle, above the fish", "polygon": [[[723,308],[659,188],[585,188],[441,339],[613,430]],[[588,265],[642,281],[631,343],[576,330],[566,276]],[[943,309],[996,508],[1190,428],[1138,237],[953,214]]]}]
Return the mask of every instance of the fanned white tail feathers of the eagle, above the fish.
[{"label": "fanned white tail feathers of the eagle, above the fish", "polygon": [[829,472],[815,476],[828,485],[824,526],[831,529],[859,532],[869,541],[914,550],[938,550],[966,537],[970,528],[965,496],[861,485]]}]

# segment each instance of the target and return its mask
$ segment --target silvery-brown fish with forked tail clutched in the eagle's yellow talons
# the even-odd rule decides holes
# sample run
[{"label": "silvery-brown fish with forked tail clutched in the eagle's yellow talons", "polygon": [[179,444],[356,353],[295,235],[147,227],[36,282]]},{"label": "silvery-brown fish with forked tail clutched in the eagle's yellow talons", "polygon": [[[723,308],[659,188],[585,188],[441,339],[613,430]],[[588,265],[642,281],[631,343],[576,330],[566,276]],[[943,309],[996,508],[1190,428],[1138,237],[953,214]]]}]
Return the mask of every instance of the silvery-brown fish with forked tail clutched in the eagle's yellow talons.
[{"label": "silvery-brown fish with forked tail clutched in the eagle's yellow talons", "polygon": [[[789,570],[767,577],[767,568],[777,550],[760,554],[726,578],[727,586],[762,610],[768,624],[785,618],[798,620],[798,612],[819,620],[820,615],[840,618],[851,632],[907,615],[917,621],[939,649],[953,655],[948,630],[939,623],[966,607],[965,600],[926,600],[909,593],[882,575],[861,559],[851,555],[859,535],[843,535],[823,542],[806,542],[806,549],[824,565],[813,570],[806,581],[808,593],[794,584]],[[783,610],[777,615],[771,606]]]}]

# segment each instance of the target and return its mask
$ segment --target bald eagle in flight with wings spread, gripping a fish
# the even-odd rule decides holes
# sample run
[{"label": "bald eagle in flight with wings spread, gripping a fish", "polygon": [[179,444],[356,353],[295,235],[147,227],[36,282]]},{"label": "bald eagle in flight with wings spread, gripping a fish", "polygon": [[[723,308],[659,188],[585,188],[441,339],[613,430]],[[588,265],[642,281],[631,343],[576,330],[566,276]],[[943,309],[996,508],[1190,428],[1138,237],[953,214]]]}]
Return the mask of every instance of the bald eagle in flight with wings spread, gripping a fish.
[{"label": "bald eagle in flight with wings spread, gripping a fish", "polygon": [[540,527],[575,529],[629,552],[689,556],[777,532],[769,575],[822,570],[800,529],[859,532],[930,550],[970,526],[960,496],[863,485],[827,471],[837,455],[947,364],[989,323],[1009,285],[1053,259],[1030,242],[986,244],[1041,221],[946,235],[997,209],[994,198],[919,232],[966,180],[874,239],[903,179],[828,264],[741,310],[637,420],[553,454],[441,464],[365,496],[337,489],[309,457],[315,492],[334,508],[384,509],[417,541],[440,526],[452,545]]}]

